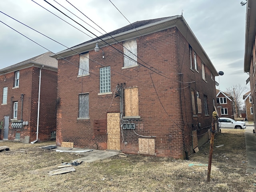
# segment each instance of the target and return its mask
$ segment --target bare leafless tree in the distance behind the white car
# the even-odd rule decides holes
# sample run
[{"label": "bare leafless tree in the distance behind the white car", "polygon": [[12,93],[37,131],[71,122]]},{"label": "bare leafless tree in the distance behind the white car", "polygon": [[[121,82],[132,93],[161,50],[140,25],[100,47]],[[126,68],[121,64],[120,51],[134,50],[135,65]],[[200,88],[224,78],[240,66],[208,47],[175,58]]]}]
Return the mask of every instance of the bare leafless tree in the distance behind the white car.
[{"label": "bare leafless tree in the distance behind the white car", "polygon": [[246,86],[242,86],[241,84],[233,85],[229,88],[226,88],[226,93],[230,94],[234,99],[234,108],[236,111],[236,117],[239,117],[240,110],[243,109],[243,94],[248,92]]}]

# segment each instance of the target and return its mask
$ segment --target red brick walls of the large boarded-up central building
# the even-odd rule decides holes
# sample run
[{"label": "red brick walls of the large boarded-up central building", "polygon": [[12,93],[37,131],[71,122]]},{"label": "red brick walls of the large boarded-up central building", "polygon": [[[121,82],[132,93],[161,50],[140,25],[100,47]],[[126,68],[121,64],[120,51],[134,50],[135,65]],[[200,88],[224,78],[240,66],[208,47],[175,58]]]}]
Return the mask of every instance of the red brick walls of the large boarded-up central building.
[{"label": "red brick walls of the large boarded-up central building", "polygon": [[[188,42],[176,28],[149,34],[144,38],[137,38],[138,57],[143,60],[138,59],[138,67],[121,69],[123,56],[107,47],[103,48],[104,59],[100,53],[89,52],[90,59],[96,61],[90,60],[90,76],[77,77],[78,68],[74,65],[79,65],[78,55],[65,58],[74,65],[62,59],[58,61],[58,145],[64,141],[74,142],[76,147],[106,149],[107,135],[94,134],[93,124],[94,120],[106,119],[106,112],[120,112],[120,98],[114,97],[114,89],[122,84],[124,88],[138,87],[140,119],[133,120],[135,131],[143,136],[156,136],[156,156],[184,158],[185,150],[192,152],[192,130],[198,129],[200,122],[202,130],[198,130],[198,135],[204,134],[207,131],[204,127],[209,126],[212,120],[212,100],[216,100],[216,92],[210,71],[206,67],[206,83],[202,80],[200,64],[199,72],[190,70]],[[122,51],[121,46],[113,46]],[[102,65],[111,66],[113,94],[98,95],[99,68]],[[202,114],[193,118],[192,89],[200,92],[202,108],[203,95],[208,96],[210,116],[205,116],[202,110]],[[89,120],[77,120],[79,93],[89,93]],[[120,137],[121,142],[124,140],[121,143],[123,152],[138,153],[139,136],[132,130],[124,130]]]}]

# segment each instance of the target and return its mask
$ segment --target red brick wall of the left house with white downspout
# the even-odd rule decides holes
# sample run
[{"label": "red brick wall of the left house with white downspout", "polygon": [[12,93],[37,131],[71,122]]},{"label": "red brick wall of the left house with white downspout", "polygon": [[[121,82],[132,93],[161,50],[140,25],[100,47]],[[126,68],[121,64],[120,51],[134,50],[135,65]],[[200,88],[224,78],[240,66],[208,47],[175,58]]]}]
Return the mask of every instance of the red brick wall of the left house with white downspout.
[{"label": "red brick wall of the left house with white downspout", "polygon": [[[14,72],[6,74],[6,81],[0,76],[0,102],[2,103],[3,87],[8,87],[7,104],[0,106],[0,120],[4,120],[4,116],[13,118],[13,102],[18,102],[18,118],[17,120],[28,121],[28,125],[23,128],[11,128],[9,126],[8,140],[14,140],[16,132],[20,133],[20,140],[24,142],[25,136],[30,136],[30,141],[36,139],[36,123],[37,123],[37,109],[38,109],[38,84],[39,84],[39,70],[40,68],[30,67],[20,70],[20,83],[18,88],[13,88],[14,85]],[[55,84],[55,86],[53,86]],[[56,114],[55,104],[56,101],[56,85],[57,85],[57,72],[49,70],[42,70],[41,82],[41,106],[40,108],[40,131],[39,139],[49,140],[51,131],[56,130]],[[55,88],[55,90],[53,89]],[[23,96],[23,110],[21,94]],[[54,98],[54,99],[53,99]],[[42,109],[42,110],[41,110]],[[55,118],[55,119],[54,119]],[[48,129],[46,131],[46,129]],[[40,138],[41,136],[41,138]],[[4,130],[0,130],[0,139],[4,137]]]}]

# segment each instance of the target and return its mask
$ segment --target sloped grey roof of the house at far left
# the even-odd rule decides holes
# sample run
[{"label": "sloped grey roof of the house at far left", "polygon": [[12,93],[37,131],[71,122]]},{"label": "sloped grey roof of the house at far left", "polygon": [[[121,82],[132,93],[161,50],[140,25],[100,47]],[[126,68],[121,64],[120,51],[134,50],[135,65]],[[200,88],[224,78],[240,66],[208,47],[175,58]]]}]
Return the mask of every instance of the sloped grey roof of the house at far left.
[{"label": "sloped grey roof of the house at far left", "polygon": [[1,73],[6,73],[11,71],[12,69],[18,68],[18,67],[22,67],[26,64],[39,64],[39,65],[44,65],[50,68],[58,68],[58,61],[55,58],[50,57],[50,55],[52,54],[52,52],[46,52],[43,54],[40,54],[38,56],[35,56],[33,58],[30,58],[28,60],[16,63],[14,65],[8,66],[6,68],[2,68],[0,69]]}]

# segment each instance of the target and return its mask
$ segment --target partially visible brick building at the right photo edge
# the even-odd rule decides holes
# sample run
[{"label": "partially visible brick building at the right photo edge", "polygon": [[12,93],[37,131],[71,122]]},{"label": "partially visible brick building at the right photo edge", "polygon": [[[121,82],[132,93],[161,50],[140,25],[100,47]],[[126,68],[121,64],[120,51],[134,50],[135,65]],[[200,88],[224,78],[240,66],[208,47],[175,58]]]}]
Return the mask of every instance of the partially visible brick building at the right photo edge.
[{"label": "partially visible brick building at the right photo edge", "polygon": [[244,72],[249,73],[254,122],[256,120],[256,1],[247,0]]}]

